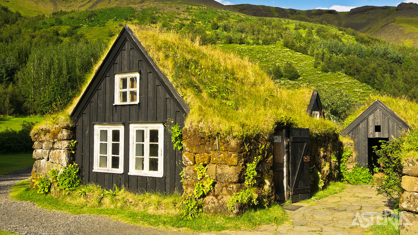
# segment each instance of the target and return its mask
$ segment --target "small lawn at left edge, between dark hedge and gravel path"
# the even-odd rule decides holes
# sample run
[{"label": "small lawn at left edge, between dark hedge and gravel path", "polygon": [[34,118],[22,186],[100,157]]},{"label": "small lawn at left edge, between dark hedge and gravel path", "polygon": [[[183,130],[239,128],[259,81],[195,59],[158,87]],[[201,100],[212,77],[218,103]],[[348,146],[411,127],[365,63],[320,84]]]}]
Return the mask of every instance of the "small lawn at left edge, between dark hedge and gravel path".
[{"label": "small lawn at left edge, between dark hedge and gravel path", "polygon": [[0,176],[33,166],[32,153],[0,154]]}]

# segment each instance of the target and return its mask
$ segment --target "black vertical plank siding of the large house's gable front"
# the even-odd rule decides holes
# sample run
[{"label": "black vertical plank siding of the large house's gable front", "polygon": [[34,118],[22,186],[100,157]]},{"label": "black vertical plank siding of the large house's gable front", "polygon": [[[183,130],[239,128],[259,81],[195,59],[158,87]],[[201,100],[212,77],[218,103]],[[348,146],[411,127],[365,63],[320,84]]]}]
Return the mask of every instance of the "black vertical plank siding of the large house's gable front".
[{"label": "black vertical plank siding of the large house's gable front", "polygon": [[[122,40],[123,41],[123,40]],[[94,91],[93,98],[89,101],[75,123],[76,140],[79,141],[75,155],[76,163],[82,168],[84,183],[95,183],[104,189],[115,189],[125,186],[133,192],[170,192],[176,190],[182,192],[180,172],[182,171],[182,156],[177,150],[173,150],[171,134],[164,130],[163,146],[163,177],[130,176],[129,172],[129,122],[163,123],[173,120],[178,125],[184,125],[185,113],[181,111],[171,93],[166,90],[158,76],[153,74],[144,59],[141,58],[133,44],[124,40],[120,45],[120,51],[112,61],[103,61],[109,64],[103,74],[98,87]],[[138,81],[139,104],[138,105],[113,105],[115,74],[139,71],[141,76]],[[94,153],[94,123],[124,123],[124,163],[123,174],[92,172]]]}]

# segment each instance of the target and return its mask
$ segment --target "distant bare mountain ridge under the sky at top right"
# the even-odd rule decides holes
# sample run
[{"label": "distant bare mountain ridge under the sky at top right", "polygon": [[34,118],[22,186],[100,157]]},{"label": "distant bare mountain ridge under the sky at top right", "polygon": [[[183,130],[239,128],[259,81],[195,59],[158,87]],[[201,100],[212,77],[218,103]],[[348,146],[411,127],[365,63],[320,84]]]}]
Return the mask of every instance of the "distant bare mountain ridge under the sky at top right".
[{"label": "distant bare mountain ridge under the sky at top right", "polygon": [[277,17],[332,26],[352,28],[394,44],[418,47],[418,4],[400,3],[391,6],[362,6],[349,12],[336,10],[295,10],[265,5],[229,5],[240,13],[258,17]]}]

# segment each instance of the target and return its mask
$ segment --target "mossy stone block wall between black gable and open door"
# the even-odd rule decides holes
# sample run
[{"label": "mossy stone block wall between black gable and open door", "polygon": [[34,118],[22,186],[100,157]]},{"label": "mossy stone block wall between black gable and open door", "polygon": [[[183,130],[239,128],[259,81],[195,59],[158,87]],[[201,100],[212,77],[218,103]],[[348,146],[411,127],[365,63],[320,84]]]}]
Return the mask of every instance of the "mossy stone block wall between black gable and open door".
[{"label": "mossy stone block wall between black gable and open door", "polygon": [[[257,165],[257,185],[273,187],[272,147],[271,140],[258,138],[252,140],[235,140],[217,136],[207,136],[197,130],[183,129],[183,189],[184,194],[192,194],[198,182],[195,167],[200,163],[206,167],[206,174],[214,179],[214,190],[203,199],[203,210],[206,213],[229,214],[227,201],[232,194],[244,188],[247,163],[254,156],[263,156]],[[263,153],[259,146],[267,145]],[[270,160],[269,160],[270,159]],[[274,192],[274,188],[272,190]],[[273,194],[269,195],[273,197]],[[239,212],[238,212],[239,213]]]}]

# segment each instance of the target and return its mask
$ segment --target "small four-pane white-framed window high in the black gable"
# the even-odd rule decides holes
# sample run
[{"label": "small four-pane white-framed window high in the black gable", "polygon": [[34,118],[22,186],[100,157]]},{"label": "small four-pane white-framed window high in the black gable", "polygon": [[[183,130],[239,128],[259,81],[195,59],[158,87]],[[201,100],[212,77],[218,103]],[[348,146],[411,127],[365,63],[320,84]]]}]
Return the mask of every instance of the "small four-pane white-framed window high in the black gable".
[{"label": "small four-pane white-framed window high in the black gable", "polygon": [[115,75],[115,105],[139,102],[139,80],[139,73]]}]

